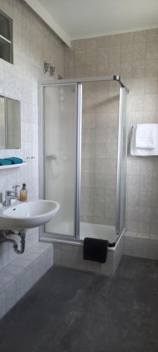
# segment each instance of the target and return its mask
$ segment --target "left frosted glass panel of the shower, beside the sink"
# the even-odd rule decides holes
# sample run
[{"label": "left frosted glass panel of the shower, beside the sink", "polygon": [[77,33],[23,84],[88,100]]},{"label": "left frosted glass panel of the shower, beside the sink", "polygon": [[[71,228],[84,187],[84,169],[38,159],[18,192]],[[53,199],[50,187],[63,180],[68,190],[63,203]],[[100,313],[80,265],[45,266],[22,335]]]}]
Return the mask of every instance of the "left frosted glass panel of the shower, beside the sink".
[{"label": "left frosted glass panel of the shower, beside the sink", "polygon": [[58,201],[45,232],[75,235],[77,179],[77,84],[44,87],[44,191]]}]

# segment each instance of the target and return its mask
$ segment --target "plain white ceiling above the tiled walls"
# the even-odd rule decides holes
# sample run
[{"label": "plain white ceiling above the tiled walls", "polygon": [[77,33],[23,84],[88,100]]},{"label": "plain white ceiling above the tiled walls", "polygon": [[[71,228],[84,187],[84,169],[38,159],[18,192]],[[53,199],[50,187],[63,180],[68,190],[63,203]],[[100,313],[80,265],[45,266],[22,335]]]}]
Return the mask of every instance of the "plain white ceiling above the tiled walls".
[{"label": "plain white ceiling above the tiled walls", "polygon": [[37,13],[40,8],[43,19],[47,13],[68,42],[158,27],[158,0],[27,0],[27,3],[32,8],[35,6]]}]

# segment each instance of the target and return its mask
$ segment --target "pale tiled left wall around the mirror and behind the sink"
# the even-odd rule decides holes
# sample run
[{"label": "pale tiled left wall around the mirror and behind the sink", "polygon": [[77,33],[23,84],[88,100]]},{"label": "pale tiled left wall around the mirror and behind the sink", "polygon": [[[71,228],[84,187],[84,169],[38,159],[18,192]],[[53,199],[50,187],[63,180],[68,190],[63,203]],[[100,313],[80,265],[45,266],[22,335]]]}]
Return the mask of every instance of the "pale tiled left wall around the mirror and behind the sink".
[{"label": "pale tiled left wall around the mirror and behind the sink", "polygon": [[[22,148],[0,150],[0,158],[19,156],[24,161],[34,156],[23,168],[0,170],[0,195],[15,184],[27,184],[28,199],[37,199],[38,180],[38,81],[44,75],[44,61],[55,64],[55,78],[63,75],[64,44],[22,0],[0,0],[0,10],[13,18],[13,58],[11,65],[0,59],[0,94],[21,101]],[[52,80],[52,77],[51,77]],[[17,236],[15,237],[17,239]],[[26,249],[39,241],[38,229],[29,230]],[[11,244],[0,246],[0,269],[16,260]],[[18,257],[17,260],[20,260]],[[8,274],[10,275],[10,274]],[[20,274],[19,274],[20,275]],[[31,278],[30,278],[31,279]],[[1,296],[3,300],[3,296]]]}]

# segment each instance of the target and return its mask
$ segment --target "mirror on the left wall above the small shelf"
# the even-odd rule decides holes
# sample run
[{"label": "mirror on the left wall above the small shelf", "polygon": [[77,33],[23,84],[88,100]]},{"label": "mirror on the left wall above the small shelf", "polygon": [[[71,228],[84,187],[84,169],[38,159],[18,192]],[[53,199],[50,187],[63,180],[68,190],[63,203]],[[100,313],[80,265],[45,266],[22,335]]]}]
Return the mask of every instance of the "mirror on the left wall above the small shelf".
[{"label": "mirror on the left wall above the small shelf", "polygon": [[20,148],[20,101],[0,96],[0,149]]}]

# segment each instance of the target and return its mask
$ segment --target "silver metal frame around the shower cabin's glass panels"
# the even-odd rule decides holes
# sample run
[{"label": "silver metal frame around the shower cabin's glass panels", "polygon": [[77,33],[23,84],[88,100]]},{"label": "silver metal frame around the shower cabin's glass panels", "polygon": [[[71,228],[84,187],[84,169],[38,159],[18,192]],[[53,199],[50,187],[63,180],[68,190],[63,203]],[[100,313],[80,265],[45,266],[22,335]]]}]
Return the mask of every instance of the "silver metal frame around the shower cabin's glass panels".
[{"label": "silver metal frame around the shower cabin's glass panels", "polygon": [[[66,234],[50,234],[44,231],[44,226],[39,227],[40,241],[62,241],[82,243],[79,239],[79,208],[80,208],[80,189],[81,189],[81,115],[82,115],[82,83],[88,82],[107,82],[116,81],[120,85],[119,95],[119,140],[118,140],[118,158],[117,158],[117,203],[116,203],[116,234],[117,239],[122,230],[120,229],[120,208],[121,208],[121,149],[123,143],[123,123],[124,123],[124,95],[129,94],[129,88],[126,87],[121,76],[101,76],[85,77],[76,79],[53,80],[39,82],[39,198],[44,199],[44,87],[54,87],[58,85],[75,84],[76,86],[76,119],[77,119],[77,159],[76,159],[76,184],[75,184],[75,215],[74,215],[74,236]],[[126,191],[126,190],[125,190]],[[126,201],[124,201],[125,211]]]}]

